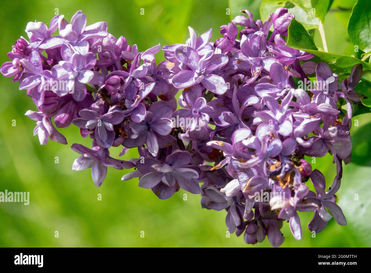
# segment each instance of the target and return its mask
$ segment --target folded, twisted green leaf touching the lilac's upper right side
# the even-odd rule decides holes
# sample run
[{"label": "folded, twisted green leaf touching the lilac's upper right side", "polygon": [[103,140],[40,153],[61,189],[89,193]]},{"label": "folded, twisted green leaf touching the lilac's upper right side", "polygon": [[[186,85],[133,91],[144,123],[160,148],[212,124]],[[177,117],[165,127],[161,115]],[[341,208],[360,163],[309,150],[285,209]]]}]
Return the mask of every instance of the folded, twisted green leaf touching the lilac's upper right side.
[{"label": "folded, twisted green leaf touching the lilac's upper right side", "polygon": [[341,54],[318,51],[311,35],[309,35],[303,25],[295,19],[292,19],[289,25],[289,35],[286,45],[291,48],[312,53],[321,58],[323,62],[331,67],[334,73],[350,72],[352,67],[356,64],[362,64],[363,69],[371,69],[370,64],[361,61],[360,59]]}]

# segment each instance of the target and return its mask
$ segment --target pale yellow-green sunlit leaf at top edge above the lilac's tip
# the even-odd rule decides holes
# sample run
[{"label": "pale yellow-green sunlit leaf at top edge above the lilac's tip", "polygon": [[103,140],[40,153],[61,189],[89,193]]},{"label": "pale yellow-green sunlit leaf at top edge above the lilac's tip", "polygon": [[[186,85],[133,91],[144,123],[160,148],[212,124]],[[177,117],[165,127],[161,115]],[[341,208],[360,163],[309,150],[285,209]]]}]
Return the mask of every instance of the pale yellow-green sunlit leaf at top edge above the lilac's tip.
[{"label": "pale yellow-green sunlit leaf at top edge above the lilac's tip", "polygon": [[260,18],[265,20],[279,7],[285,7],[289,13],[295,14],[295,18],[303,24],[305,29],[315,29],[319,25],[319,19],[312,14],[310,0],[263,0],[260,4]]}]

